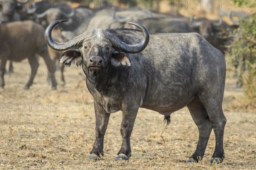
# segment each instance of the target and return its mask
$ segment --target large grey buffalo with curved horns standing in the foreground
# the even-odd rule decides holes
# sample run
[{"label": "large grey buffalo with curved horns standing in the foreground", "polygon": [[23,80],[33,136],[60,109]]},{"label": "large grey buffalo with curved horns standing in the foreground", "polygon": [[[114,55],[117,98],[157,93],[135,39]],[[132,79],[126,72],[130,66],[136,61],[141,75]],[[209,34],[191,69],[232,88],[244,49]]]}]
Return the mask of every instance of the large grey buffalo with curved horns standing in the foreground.
[{"label": "large grey buffalo with curved horns standing in the foreground", "polygon": [[169,124],[172,112],[187,106],[199,130],[198,145],[187,162],[203,158],[212,128],[216,145],[210,162],[223,161],[226,118],[221,106],[226,63],[221,51],[197,33],[149,35],[138,23],[130,24],[143,32],[143,38],[133,29],[93,29],[58,43],[51,31],[64,21],[51,23],[45,38],[51,48],[67,50],[61,63],[70,66],[76,61],[86,75],[96,115],[96,139],[88,158],[103,156],[111,113],[122,111],[122,146],[115,160],[127,160],[139,107],[163,114]]}]

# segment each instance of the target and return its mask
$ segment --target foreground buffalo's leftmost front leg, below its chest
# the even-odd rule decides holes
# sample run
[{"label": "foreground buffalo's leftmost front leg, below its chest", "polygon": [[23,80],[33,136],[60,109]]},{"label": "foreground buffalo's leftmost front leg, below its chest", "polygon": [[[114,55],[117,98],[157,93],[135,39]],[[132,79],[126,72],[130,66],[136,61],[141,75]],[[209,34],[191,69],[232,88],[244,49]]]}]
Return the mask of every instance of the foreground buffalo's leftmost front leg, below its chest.
[{"label": "foreground buffalo's leftmost front leg, below its chest", "polygon": [[93,144],[93,149],[90,151],[90,155],[87,157],[89,159],[99,158],[100,155],[104,156],[103,152],[103,141],[104,135],[107,130],[108,120],[110,114],[105,112],[101,105],[94,101],[94,109],[96,116],[96,138]]}]

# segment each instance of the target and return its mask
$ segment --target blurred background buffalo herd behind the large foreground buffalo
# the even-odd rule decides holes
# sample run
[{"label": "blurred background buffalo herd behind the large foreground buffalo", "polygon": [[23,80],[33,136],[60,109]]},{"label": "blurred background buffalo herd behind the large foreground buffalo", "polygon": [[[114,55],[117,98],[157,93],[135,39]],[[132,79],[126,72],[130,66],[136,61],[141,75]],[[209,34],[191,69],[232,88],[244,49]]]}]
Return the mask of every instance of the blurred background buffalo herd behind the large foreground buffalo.
[{"label": "blurred background buffalo herd behind the large foreground buffalo", "polygon": [[[229,13],[230,20],[237,23],[232,15],[234,12]],[[240,14],[241,15],[241,14]],[[166,14],[161,14],[157,12],[152,12],[149,5],[145,5],[145,8],[137,9],[122,9],[122,8],[105,8],[100,7],[99,9],[93,9],[86,5],[79,5],[73,7],[70,3],[64,1],[31,1],[31,0],[0,0],[0,22],[1,22],[1,46],[6,46],[6,48],[0,49],[0,68],[1,68],[1,87],[4,86],[3,76],[6,74],[6,61],[10,61],[9,72],[12,72],[12,61],[21,61],[25,58],[30,58],[29,61],[32,69],[37,69],[38,58],[35,54],[38,54],[40,50],[45,50],[45,56],[43,58],[50,58],[45,60],[48,69],[53,68],[59,69],[61,72],[61,81],[59,84],[65,84],[64,81],[64,67],[62,64],[58,63],[60,52],[50,49],[49,47],[44,47],[45,43],[42,42],[41,48],[37,47],[38,44],[27,42],[26,48],[32,48],[32,56],[29,55],[15,55],[23,54],[23,51],[27,49],[16,48],[20,46],[20,41],[17,43],[12,42],[12,38],[20,37],[21,35],[27,37],[29,35],[40,36],[42,35],[42,29],[46,29],[47,26],[54,22],[55,20],[67,19],[65,23],[60,23],[53,29],[53,34],[58,37],[58,42],[64,42],[73,39],[74,37],[81,35],[84,31],[89,31],[92,29],[117,29],[117,28],[129,28],[137,29],[136,26],[127,24],[127,22],[136,22],[143,25],[149,33],[189,33],[197,32],[202,35],[209,43],[215,48],[221,50],[224,54],[226,47],[225,43],[228,43],[231,38],[227,34],[225,36],[222,34],[223,30],[229,30],[232,32],[233,29],[238,27],[237,24],[232,26],[228,25],[222,20],[220,16],[218,20],[208,20],[207,18],[194,19],[195,16],[190,18],[184,17],[177,12],[169,12]],[[30,20],[31,22],[27,22]],[[40,29],[28,30],[26,29],[26,24],[28,26],[41,25]],[[21,27],[17,27],[15,25]],[[39,25],[38,25],[39,24]],[[12,28],[14,27],[14,28]],[[32,26],[31,26],[32,27]],[[18,33],[17,33],[18,32]],[[22,42],[23,43],[23,42]],[[8,46],[8,48],[7,48]],[[46,48],[46,49],[44,49]],[[20,51],[19,51],[20,50]],[[41,52],[41,51],[40,51]],[[32,59],[36,58],[36,59]],[[54,63],[54,66],[52,63]],[[33,77],[33,76],[32,76]],[[53,81],[52,85],[55,86],[55,78],[51,78]],[[24,87],[26,89],[32,84],[33,78],[30,78],[29,83]],[[55,89],[53,87],[53,89]]]}]

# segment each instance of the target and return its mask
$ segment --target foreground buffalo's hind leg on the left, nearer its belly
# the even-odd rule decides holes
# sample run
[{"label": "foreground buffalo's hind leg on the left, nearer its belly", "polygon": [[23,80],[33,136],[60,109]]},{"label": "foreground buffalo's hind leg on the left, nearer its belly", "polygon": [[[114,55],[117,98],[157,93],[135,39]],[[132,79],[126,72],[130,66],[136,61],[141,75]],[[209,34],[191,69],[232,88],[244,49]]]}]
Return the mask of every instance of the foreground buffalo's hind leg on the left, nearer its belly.
[{"label": "foreground buffalo's hind leg on the left, nearer its belly", "polygon": [[209,140],[209,136],[212,132],[212,124],[209,121],[206,109],[198,100],[198,98],[195,98],[193,101],[191,101],[187,107],[193,120],[195,121],[195,124],[198,127],[199,139],[195,153],[193,153],[192,156],[189,157],[189,160],[186,162],[198,162],[204,157],[204,152]]}]

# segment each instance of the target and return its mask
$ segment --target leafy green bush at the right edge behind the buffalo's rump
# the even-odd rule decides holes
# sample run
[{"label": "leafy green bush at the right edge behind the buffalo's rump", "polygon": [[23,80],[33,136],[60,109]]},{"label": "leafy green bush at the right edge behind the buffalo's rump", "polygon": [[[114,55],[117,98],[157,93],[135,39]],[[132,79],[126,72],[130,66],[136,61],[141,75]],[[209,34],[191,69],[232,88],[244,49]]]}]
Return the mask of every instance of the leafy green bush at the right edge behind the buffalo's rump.
[{"label": "leafy green bush at the right edge behind the buffalo's rump", "polygon": [[[238,6],[255,7],[255,1],[233,0]],[[238,73],[238,85],[243,85],[245,94],[255,106],[256,101],[256,14],[248,15],[239,22],[239,28],[231,37],[229,54]]]}]

